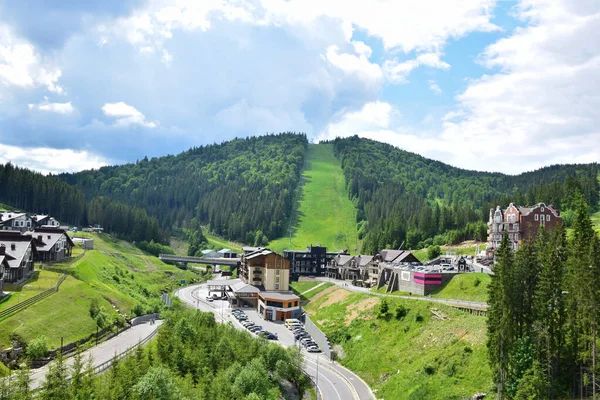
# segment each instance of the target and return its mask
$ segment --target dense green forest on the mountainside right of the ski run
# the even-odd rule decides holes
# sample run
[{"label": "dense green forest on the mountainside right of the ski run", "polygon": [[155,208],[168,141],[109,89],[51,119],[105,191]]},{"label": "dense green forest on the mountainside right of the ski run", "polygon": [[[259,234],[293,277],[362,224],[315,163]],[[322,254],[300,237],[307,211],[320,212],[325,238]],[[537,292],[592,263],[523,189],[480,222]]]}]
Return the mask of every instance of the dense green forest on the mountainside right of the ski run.
[{"label": "dense green forest on the mountainside right of the ski run", "polygon": [[553,204],[570,219],[581,193],[598,204],[598,164],[555,165],[517,176],[469,171],[357,136],[332,141],[357,207],[362,251],[485,241],[489,210]]}]

